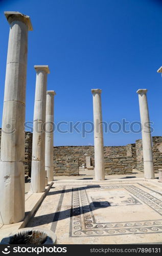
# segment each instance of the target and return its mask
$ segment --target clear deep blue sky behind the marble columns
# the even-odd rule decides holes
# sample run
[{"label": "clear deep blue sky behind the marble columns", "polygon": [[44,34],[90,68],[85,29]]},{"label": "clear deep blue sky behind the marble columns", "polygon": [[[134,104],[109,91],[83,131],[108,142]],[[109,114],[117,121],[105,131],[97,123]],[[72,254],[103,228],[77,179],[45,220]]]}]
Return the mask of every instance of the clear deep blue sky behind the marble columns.
[{"label": "clear deep blue sky behind the marble columns", "polygon": [[[33,120],[34,65],[49,65],[48,90],[55,90],[55,123],[92,121],[91,89],[102,89],[103,121],[140,121],[137,89],[148,89],[153,136],[162,135],[162,1],[0,1],[0,126],[2,124],[9,24],[4,11],[31,17],[26,121]],[[66,130],[67,125],[62,125]],[[88,129],[88,126],[87,126]],[[104,134],[104,145],[125,145],[141,134]],[[94,135],[55,132],[55,145],[94,144]]]}]

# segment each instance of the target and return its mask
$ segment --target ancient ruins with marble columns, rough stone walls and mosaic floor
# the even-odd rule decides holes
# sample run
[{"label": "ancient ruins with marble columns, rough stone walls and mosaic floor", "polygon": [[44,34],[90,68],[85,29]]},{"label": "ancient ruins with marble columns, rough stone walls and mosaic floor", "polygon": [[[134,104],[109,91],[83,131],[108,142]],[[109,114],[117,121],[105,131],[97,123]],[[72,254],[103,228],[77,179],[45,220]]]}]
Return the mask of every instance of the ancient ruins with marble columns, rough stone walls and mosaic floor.
[{"label": "ancient ruins with marble columns, rough stone walls and mosaic floor", "polygon": [[102,90],[92,89],[94,146],[54,146],[56,92],[48,90],[47,63],[35,63],[33,133],[25,132],[28,32],[34,32],[29,16],[5,16],[10,32],[0,133],[1,240],[28,227],[49,229],[58,244],[161,242],[162,136],[151,137],[145,125],[147,89],[136,92],[142,139],[104,146]]}]

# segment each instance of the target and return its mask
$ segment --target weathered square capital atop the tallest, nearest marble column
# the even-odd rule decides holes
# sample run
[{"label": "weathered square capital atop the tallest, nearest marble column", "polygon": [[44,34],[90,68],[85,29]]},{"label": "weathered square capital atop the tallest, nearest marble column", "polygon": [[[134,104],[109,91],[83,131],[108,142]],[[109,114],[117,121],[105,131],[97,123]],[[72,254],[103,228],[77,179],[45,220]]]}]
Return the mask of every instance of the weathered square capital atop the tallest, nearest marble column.
[{"label": "weathered square capital atop the tallest, nearest marble column", "polygon": [[9,24],[14,22],[14,20],[19,20],[20,22],[24,22],[28,26],[28,30],[33,30],[32,23],[30,17],[28,15],[22,14],[20,12],[6,11],[4,12]]}]

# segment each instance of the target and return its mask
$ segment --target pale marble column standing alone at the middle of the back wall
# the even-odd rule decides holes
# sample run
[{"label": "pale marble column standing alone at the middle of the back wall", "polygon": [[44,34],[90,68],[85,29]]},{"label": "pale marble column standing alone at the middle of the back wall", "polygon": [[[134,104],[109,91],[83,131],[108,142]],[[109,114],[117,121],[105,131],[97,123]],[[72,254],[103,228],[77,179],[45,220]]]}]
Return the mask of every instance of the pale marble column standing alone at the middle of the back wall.
[{"label": "pale marble column standing alone at the middle of the back wall", "polygon": [[105,179],[101,90],[92,89],[94,108],[95,180]]}]

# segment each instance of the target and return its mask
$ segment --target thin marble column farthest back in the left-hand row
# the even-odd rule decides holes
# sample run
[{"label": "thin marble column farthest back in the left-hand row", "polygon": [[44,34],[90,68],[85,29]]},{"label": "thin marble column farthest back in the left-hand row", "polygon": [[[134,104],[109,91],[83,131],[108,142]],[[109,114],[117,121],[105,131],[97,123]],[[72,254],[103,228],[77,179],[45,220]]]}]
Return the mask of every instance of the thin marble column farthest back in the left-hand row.
[{"label": "thin marble column farthest back in the left-hand row", "polygon": [[45,172],[48,181],[54,179],[54,95],[55,91],[47,91],[46,116],[45,116]]}]

